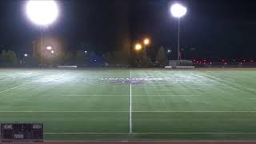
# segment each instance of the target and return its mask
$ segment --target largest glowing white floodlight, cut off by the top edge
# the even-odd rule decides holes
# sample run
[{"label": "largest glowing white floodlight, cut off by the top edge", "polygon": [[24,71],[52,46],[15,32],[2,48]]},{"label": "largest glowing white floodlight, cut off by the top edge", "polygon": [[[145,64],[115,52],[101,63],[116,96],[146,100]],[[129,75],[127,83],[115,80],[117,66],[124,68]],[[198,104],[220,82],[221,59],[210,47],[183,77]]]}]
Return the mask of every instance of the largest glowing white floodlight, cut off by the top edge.
[{"label": "largest glowing white floodlight, cut off by the top edge", "polygon": [[54,0],[30,0],[26,3],[28,18],[39,26],[47,26],[58,17],[58,6]]}]

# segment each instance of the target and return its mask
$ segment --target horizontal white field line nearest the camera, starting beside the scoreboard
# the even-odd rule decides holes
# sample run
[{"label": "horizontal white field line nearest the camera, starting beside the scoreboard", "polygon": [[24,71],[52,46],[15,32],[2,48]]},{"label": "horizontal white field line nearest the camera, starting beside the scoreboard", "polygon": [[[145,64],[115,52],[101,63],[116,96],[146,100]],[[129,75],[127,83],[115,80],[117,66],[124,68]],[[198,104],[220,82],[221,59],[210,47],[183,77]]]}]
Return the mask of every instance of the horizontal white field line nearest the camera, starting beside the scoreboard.
[{"label": "horizontal white field line nearest the camera, starting beside the scoreboard", "polygon": [[[44,134],[130,134],[130,133],[44,133]],[[224,132],[224,133],[214,133],[214,132],[212,132],[212,133],[175,133],[175,132],[173,132],[173,133],[168,133],[168,132],[166,132],[166,133],[132,133],[132,134],[256,134],[256,133],[250,133],[250,132],[248,132],[248,133],[246,133],[246,132],[244,132],[244,133],[229,133],[229,132]]]}]

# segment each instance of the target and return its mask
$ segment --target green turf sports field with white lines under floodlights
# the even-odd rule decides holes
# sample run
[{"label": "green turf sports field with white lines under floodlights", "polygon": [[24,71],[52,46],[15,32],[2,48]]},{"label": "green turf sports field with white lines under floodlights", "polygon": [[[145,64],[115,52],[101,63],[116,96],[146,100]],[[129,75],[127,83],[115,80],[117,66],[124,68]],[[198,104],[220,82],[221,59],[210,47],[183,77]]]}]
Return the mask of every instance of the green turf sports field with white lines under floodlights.
[{"label": "green turf sports field with white lines under floodlights", "polygon": [[45,140],[256,140],[256,69],[0,69],[0,122],[43,122]]}]

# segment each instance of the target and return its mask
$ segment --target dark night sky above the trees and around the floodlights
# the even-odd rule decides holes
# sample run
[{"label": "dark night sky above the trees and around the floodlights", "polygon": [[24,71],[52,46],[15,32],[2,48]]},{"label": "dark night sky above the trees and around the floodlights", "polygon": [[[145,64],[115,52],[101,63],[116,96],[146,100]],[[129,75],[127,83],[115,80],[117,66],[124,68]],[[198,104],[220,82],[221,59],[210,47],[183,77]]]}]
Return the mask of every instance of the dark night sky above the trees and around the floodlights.
[{"label": "dark night sky above the trees and around the floodlights", "polygon": [[[167,0],[63,0],[61,15],[46,32],[47,37],[61,38],[68,50],[81,48],[106,52],[116,50],[115,36],[118,10],[123,1],[128,5],[126,26],[132,43],[144,35],[152,38],[151,53],[160,46],[176,49],[177,19],[170,15]],[[0,1],[0,49],[19,53],[31,51],[33,39],[40,29],[27,20],[26,1]],[[188,7],[181,20],[181,47],[196,48],[201,58],[256,57],[256,1],[254,0],[187,0]],[[121,2],[122,3],[122,2]],[[124,4],[123,4],[124,5]],[[121,5],[120,5],[121,6]]]}]

